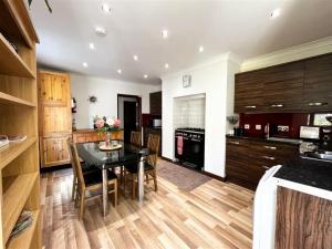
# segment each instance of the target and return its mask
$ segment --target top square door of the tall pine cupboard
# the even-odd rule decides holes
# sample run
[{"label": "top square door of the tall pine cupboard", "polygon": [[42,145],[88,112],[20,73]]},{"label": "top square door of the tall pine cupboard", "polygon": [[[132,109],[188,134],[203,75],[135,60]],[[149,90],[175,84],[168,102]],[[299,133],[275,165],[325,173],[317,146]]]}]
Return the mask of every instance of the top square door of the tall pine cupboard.
[{"label": "top square door of the tall pine cupboard", "polygon": [[70,82],[66,75],[41,73],[40,96],[43,104],[68,105]]}]

